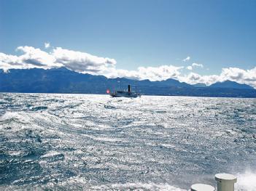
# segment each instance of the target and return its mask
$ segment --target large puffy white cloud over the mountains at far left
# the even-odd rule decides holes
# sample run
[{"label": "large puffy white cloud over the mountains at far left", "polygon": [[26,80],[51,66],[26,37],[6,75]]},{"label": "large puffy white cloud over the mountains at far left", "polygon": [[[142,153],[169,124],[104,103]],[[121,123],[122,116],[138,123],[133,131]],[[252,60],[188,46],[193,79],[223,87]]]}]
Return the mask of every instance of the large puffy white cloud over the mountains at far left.
[{"label": "large puffy white cloud over the mountains at far left", "polygon": [[19,46],[20,56],[0,53],[0,68],[9,69],[29,68],[60,68],[66,67],[80,73],[97,74],[98,71],[113,67],[114,59],[96,57],[85,52],[75,52],[57,47],[53,52],[44,52],[31,46]]}]

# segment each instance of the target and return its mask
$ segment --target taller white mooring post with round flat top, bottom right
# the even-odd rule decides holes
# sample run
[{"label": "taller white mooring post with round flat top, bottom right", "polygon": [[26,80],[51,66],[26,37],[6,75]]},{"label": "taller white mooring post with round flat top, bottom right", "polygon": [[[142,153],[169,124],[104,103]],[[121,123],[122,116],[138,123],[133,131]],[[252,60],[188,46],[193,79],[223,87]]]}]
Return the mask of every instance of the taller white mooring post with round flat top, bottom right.
[{"label": "taller white mooring post with round flat top, bottom right", "polygon": [[216,174],[215,180],[217,181],[217,191],[234,191],[236,183],[236,176],[232,174]]}]

